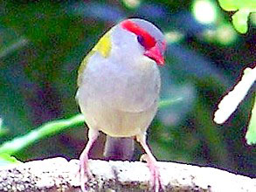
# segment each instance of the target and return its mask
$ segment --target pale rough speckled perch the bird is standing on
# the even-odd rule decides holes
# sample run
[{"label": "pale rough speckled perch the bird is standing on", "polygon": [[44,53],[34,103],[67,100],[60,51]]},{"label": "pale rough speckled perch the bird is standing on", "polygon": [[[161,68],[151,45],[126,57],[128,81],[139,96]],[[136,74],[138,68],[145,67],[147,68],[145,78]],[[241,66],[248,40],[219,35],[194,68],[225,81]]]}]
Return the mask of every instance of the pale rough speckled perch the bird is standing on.
[{"label": "pale rough speckled perch the bird is standing on", "polygon": [[[79,161],[62,157],[0,168],[0,191],[80,191]],[[149,168],[139,161],[90,161],[89,191],[149,191]],[[217,168],[159,162],[166,191],[256,191],[256,179]],[[107,190],[112,189],[112,190]]]}]

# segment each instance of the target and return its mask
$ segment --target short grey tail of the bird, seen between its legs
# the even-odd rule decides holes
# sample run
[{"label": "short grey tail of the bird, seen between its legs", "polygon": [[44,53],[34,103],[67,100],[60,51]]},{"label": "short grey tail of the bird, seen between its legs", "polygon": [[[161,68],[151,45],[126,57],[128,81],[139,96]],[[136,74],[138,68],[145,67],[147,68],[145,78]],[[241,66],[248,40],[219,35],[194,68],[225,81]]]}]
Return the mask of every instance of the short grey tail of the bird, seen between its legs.
[{"label": "short grey tail of the bird, seen between its legs", "polygon": [[135,141],[130,137],[110,137],[107,135],[104,156],[106,160],[131,160]]}]

